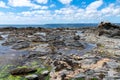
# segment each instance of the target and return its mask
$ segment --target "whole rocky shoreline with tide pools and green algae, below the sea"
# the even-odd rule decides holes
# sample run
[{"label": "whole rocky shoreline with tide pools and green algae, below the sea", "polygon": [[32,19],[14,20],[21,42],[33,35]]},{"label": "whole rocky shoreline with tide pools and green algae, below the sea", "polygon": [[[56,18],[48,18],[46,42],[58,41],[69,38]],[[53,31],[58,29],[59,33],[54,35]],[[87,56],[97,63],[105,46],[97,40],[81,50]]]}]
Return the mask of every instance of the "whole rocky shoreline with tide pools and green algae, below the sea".
[{"label": "whole rocky shoreline with tide pools and green algae, below the sea", "polygon": [[120,80],[117,25],[101,22],[95,28],[1,28],[0,32],[0,47],[10,47],[6,58],[0,55],[0,66],[6,61],[5,66],[11,65],[7,77],[0,79]]}]

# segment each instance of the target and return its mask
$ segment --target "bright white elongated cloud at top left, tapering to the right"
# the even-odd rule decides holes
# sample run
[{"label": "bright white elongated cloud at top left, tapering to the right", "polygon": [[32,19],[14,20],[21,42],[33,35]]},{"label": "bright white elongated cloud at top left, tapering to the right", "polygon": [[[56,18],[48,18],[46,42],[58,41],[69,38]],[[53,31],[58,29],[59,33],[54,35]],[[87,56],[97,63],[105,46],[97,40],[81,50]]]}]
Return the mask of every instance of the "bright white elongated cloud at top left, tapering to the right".
[{"label": "bright white elongated cloud at top left, tapering to the right", "polygon": [[8,4],[13,7],[30,7],[31,9],[48,9],[47,6],[40,6],[31,3],[30,0],[9,0]]}]

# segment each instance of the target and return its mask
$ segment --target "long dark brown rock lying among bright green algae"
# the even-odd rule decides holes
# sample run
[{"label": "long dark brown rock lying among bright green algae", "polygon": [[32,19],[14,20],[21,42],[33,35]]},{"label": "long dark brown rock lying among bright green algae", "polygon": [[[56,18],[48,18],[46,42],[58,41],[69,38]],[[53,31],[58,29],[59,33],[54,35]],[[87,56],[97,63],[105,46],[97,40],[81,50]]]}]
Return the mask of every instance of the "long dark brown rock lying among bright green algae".
[{"label": "long dark brown rock lying among bright green algae", "polygon": [[29,73],[34,73],[36,72],[37,69],[33,69],[33,68],[16,68],[10,71],[11,75],[25,75],[25,74],[29,74]]}]

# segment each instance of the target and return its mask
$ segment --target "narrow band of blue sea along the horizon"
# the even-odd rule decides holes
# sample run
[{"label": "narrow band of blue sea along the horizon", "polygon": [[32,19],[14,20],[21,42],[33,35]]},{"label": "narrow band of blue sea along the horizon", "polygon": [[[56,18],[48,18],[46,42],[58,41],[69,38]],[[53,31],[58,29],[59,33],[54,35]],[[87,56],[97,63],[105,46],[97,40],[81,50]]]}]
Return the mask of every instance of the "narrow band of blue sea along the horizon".
[{"label": "narrow band of blue sea along the horizon", "polygon": [[[120,25],[120,23],[114,23]],[[16,27],[16,28],[27,28],[27,27],[42,27],[42,28],[81,28],[81,27],[97,27],[98,23],[77,23],[77,24],[7,24],[0,25],[0,28],[5,27]]]}]

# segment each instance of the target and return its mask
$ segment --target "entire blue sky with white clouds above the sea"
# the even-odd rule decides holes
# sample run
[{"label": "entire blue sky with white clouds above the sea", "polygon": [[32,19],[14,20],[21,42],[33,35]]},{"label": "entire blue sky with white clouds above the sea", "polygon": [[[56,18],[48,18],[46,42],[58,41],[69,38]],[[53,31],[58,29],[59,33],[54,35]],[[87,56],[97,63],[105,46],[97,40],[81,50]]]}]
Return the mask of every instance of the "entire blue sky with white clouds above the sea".
[{"label": "entire blue sky with white clouds above the sea", "polygon": [[120,23],[120,0],[0,0],[0,24]]}]

